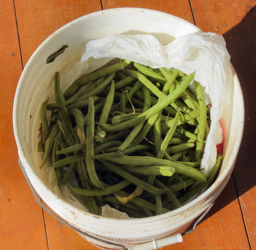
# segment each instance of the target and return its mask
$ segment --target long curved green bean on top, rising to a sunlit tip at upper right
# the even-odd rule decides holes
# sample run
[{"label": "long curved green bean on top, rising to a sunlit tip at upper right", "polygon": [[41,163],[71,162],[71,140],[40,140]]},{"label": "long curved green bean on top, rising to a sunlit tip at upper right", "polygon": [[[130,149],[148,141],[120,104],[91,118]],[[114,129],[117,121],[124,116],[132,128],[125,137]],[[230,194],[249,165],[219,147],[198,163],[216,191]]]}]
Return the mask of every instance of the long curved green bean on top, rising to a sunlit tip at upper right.
[{"label": "long curved green bean on top, rising to a sunlit tip at upper right", "polygon": [[186,89],[186,87],[189,85],[190,81],[192,81],[194,76],[195,76],[195,73],[190,74],[186,78],[186,80],[184,80],[183,83],[180,84],[180,86],[175,89],[175,91],[173,93],[166,96],[166,98],[160,100],[160,102],[158,102],[156,105],[154,105],[153,107],[151,107],[144,113],[138,115],[136,118],[128,120],[126,122],[121,122],[119,124],[111,124],[111,125],[100,124],[100,127],[104,131],[121,131],[125,128],[135,126],[138,123],[145,121],[146,119],[150,118],[154,114],[158,113],[162,108],[166,107],[171,102],[173,102],[177,98],[177,96],[179,96],[180,93],[182,93],[183,90]]}]

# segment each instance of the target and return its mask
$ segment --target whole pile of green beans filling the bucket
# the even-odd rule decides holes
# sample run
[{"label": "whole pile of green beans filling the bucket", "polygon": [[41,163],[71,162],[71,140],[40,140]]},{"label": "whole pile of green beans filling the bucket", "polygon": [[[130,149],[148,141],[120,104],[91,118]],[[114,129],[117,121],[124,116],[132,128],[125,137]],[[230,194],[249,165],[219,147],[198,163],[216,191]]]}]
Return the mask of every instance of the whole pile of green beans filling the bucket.
[{"label": "whole pile of green beans filling the bucket", "polygon": [[196,96],[188,89],[194,77],[119,59],[62,93],[55,73],[55,103],[40,109],[40,167],[93,214],[105,204],[135,218],[182,206],[220,166],[219,157],[209,176],[200,169],[210,119],[201,84]]}]

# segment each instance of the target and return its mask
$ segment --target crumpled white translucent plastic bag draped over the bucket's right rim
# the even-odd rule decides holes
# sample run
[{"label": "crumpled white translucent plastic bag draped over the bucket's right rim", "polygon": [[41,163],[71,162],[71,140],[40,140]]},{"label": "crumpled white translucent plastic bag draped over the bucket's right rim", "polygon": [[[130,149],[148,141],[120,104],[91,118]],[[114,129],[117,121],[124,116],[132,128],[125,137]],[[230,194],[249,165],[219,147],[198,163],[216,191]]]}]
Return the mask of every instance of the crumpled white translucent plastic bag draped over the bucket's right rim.
[{"label": "crumpled white translucent plastic bag draped over the bucket's right rim", "polygon": [[216,145],[222,142],[219,119],[229,89],[230,55],[223,36],[209,32],[190,33],[162,46],[153,35],[108,35],[89,41],[81,62],[95,58],[99,63],[103,58],[110,61],[116,57],[153,68],[173,67],[186,74],[196,71],[195,80],[204,86],[206,102],[212,105],[211,127],[201,163],[203,172],[208,174],[216,161]]}]

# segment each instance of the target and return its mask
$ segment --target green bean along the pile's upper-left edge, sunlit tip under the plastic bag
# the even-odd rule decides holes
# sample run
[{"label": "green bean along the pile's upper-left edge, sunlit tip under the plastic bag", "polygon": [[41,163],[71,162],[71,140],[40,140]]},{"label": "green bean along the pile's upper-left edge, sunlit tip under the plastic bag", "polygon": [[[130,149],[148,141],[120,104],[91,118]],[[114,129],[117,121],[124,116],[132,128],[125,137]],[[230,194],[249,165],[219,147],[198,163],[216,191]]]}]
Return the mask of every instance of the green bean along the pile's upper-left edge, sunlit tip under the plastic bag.
[{"label": "green bean along the pile's upper-left edge, sunlit tip under the plastic bag", "polygon": [[106,76],[108,74],[112,74],[118,70],[121,70],[122,68],[126,67],[128,64],[130,64],[131,61],[128,60],[120,60],[118,63],[110,65],[108,67],[96,70],[95,72],[92,72],[86,76],[82,76],[81,78],[77,79],[73,82],[73,84],[67,88],[65,92],[65,96],[68,98],[73,95],[73,93],[76,92],[76,90],[81,86],[86,84],[87,82],[93,81],[99,77]]}]

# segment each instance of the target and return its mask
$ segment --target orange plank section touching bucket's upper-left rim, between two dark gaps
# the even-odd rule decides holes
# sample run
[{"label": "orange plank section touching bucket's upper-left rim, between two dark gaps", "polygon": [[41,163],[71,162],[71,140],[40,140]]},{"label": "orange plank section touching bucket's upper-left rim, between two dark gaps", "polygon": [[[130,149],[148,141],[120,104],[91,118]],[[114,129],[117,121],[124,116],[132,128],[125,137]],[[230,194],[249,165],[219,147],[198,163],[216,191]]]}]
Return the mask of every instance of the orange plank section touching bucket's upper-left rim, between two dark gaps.
[{"label": "orange plank section touching bucket's upper-left rim, between two dark gaps", "polygon": [[15,0],[23,65],[55,30],[70,21],[102,9],[100,0]]}]

